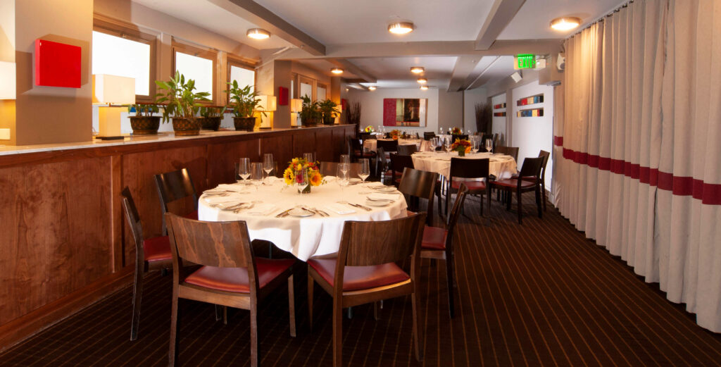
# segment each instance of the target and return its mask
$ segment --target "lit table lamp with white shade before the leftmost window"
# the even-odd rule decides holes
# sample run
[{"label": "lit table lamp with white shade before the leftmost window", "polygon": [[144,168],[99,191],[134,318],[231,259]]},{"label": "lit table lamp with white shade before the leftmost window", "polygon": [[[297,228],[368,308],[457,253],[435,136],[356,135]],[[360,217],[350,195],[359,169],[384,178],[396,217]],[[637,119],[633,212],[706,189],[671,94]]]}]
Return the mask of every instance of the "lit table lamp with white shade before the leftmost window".
[{"label": "lit table lamp with white shade before the leftmost window", "polygon": [[127,107],[112,105],[131,105],[135,103],[135,78],[126,76],[93,74],[92,76],[93,105],[98,107],[97,138],[101,140],[122,139],[120,134],[120,112]]}]

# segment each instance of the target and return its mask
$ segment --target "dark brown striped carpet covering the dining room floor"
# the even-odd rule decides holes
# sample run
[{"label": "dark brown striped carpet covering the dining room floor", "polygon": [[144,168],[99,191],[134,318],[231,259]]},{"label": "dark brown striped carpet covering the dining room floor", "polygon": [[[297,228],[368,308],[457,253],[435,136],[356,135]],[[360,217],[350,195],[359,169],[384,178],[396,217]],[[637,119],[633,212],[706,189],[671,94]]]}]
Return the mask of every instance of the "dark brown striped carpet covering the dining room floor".
[{"label": "dark brown striped carpet covering the dining room floor", "polygon": [[[533,195],[524,207],[534,210]],[[423,261],[425,361],[411,346],[409,298],[344,319],[345,366],[718,366],[721,336],[584,238],[549,206],[543,219],[494,202],[492,224],[466,202],[456,236],[458,301],[448,319],[445,265]],[[531,212],[533,213],[533,212]],[[309,332],[304,274],[296,275],[298,337],[288,335],[283,287],[262,305],[262,366],[331,366],[331,299],[317,288]],[[138,340],[131,342],[131,288],[0,355],[1,366],[167,366],[171,277],[149,275]],[[216,322],[213,307],[182,301],[182,366],[247,366],[247,311]]]}]

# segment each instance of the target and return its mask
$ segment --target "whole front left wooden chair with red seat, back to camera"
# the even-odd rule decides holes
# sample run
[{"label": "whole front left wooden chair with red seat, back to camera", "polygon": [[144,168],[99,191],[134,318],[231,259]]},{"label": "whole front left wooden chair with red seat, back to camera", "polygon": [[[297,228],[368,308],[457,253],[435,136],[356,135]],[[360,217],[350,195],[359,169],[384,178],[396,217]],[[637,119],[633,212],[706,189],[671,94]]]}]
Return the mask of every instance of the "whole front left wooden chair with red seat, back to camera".
[{"label": "whole front left wooden chair with red seat, back to camera", "polygon": [[[257,367],[258,302],[275,288],[288,284],[291,336],[296,336],[293,264],[296,260],[255,257],[244,221],[195,221],[173,213],[165,215],[173,261],[173,300],[169,366],[180,350],[179,299],[220,304],[250,311],[250,366]],[[203,265],[191,273],[184,262]]]}]

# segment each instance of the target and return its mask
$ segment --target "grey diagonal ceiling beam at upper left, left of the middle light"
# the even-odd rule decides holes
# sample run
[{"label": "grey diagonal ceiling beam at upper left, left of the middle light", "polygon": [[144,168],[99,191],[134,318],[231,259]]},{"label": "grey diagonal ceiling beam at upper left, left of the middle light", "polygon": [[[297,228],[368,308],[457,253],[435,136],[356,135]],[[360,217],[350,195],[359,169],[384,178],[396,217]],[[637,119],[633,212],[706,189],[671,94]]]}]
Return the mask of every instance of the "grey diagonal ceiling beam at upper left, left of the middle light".
[{"label": "grey diagonal ceiling beam at upper left, left of the middle light", "polygon": [[313,56],[324,56],[325,45],[252,0],[208,0],[267,30]]}]

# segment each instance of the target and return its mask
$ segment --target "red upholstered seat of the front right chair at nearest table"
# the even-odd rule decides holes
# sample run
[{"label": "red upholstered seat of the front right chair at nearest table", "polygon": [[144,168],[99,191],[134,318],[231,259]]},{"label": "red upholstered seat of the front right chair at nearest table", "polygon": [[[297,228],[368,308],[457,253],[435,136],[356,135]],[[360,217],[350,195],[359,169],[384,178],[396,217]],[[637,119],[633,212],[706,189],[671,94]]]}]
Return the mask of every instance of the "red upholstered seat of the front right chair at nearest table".
[{"label": "red upholstered seat of the front right chair at nearest table", "polygon": [[[333,286],[336,259],[311,259],[308,265]],[[388,286],[410,279],[398,265],[393,262],[375,266],[346,266],[343,273],[343,291]]]}]

